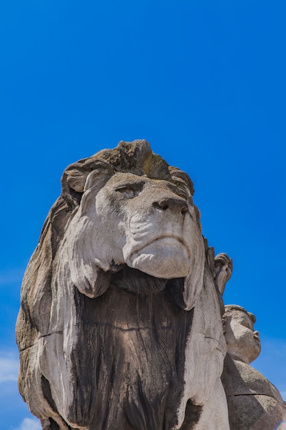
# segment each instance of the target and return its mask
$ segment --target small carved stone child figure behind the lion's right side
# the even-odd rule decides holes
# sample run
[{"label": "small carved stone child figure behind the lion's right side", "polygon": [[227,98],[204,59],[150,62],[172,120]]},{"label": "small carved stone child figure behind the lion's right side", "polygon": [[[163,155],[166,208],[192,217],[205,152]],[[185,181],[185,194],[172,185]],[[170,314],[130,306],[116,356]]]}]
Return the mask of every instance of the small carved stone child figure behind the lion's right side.
[{"label": "small carved stone child figure behind the lion's right side", "polygon": [[255,321],[243,307],[225,306],[223,326],[228,354],[222,383],[230,430],[274,430],[286,419],[285,403],[276,387],[250,366],[261,350]]}]

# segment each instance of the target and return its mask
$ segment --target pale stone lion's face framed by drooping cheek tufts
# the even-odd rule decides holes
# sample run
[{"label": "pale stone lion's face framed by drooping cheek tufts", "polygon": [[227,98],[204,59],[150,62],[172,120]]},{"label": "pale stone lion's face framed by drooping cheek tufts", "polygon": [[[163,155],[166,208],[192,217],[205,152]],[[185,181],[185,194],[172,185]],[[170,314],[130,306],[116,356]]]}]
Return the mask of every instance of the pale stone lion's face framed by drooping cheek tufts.
[{"label": "pale stone lion's face framed by drooping cheek tufts", "polygon": [[[88,297],[96,297],[108,286],[107,282],[102,286],[102,278],[97,280],[99,269],[112,273],[127,264],[155,278],[187,278],[187,282],[191,278],[192,293],[199,293],[204,243],[191,181],[162,159],[155,163],[147,142],[133,145],[133,150],[145,150],[133,169],[119,165],[122,172],[110,163],[95,162],[95,169],[80,184],[78,177],[67,174],[69,187],[82,193],[64,244],[73,283]],[[125,143],[119,144],[119,154],[124,147]],[[152,163],[155,172],[149,170]],[[193,306],[193,294],[186,289],[186,308]]]}]

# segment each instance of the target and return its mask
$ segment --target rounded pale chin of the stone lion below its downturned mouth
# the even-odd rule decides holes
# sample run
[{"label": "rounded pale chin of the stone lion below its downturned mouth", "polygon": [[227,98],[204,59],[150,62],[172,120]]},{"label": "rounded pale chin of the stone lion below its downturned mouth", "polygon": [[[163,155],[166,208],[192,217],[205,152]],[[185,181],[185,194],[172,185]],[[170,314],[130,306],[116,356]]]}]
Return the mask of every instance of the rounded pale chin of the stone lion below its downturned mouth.
[{"label": "rounded pale chin of the stone lion below its downturned mouth", "polygon": [[160,238],[131,253],[126,264],[155,278],[184,278],[189,273],[186,247],[176,238]]}]

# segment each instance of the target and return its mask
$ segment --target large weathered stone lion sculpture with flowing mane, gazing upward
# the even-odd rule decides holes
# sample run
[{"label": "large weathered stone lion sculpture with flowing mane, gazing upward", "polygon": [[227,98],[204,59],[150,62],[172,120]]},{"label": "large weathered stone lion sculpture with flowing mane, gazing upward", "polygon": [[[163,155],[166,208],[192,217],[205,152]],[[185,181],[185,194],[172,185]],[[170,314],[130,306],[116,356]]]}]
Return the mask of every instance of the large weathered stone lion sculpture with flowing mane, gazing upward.
[{"label": "large weathered stone lion sculpture with flowing mane, gazing upward", "polygon": [[144,140],[64,171],[16,324],[19,389],[43,429],[229,428],[216,273],[192,195]]}]

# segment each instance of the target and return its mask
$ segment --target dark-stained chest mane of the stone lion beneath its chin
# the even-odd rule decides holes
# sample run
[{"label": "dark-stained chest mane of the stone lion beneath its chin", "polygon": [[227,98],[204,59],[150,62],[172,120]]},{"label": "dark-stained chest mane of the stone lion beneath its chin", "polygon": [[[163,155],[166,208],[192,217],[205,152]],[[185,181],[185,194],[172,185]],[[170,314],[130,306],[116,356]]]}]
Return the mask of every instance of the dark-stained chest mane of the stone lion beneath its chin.
[{"label": "dark-stained chest mane of the stone lion beneath its chin", "polygon": [[150,429],[174,420],[184,385],[184,346],[192,312],[171,303],[167,288],[137,295],[110,286],[96,300],[78,291],[75,296],[82,327],[74,363],[81,381],[78,402],[90,405],[86,424],[91,411],[97,411],[95,428],[102,428],[101,420],[108,421],[108,416],[132,422],[132,429],[137,428],[132,416],[141,414],[150,420]]}]

